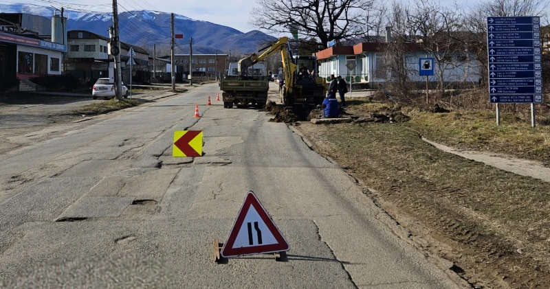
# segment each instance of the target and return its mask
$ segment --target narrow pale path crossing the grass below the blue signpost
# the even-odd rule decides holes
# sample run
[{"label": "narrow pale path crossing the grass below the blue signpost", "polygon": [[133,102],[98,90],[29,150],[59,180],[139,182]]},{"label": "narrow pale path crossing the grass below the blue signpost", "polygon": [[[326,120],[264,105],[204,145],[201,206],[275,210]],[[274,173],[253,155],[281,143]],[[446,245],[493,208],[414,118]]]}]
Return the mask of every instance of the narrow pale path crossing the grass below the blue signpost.
[{"label": "narrow pale path crossing the grass below the blue signpost", "polygon": [[456,150],[449,146],[442,145],[440,143],[434,143],[424,137],[423,141],[430,143],[435,148],[442,150],[443,152],[449,152],[456,154],[465,159],[471,159],[472,161],[478,161],[485,163],[485,165],[491,165],[500,170],[512,172],[522,176],[530,176],[531,178],[537,178],[539,180],[550,183],[550,167],[544,167],[542,163],[537,161],[529,161],[526,159],[516,159],[501,154],[494,154],[491,152],[476,152],[470,150]]}]

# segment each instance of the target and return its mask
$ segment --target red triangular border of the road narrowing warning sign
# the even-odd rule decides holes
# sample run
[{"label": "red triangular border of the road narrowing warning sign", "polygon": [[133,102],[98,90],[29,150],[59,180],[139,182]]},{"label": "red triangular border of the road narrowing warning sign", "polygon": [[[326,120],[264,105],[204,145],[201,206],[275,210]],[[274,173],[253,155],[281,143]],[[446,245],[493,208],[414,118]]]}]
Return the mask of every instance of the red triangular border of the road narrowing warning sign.
[{"label": "red triangular border of the road narrowing warning sign", "polygon": [[[237,235],[239,234],[239,231],[241,229],[241,226],[243,225],[245,217],[248,213],[248,209],[250,209],[250,206],[256,209],[256,212],[262,218],[267,229],[269,229],[270,232],[273,234],[275,240],[277,241],[276,244],[233,248],[233,244],[236,240]],[[221,248],[221,257],[227,258],[227,257],[256,255],[256,254],[264,254],[264,253],[276,253],[276,252],[285,252],[289,250],[290,250],[290,246],[287,240],[285,240],[285,237],[283,237],[283,234],[281,233],[281,231],[279,231],[279,229],[276,227],[272,218],[269,216],[269,214],[267,213],[263,205],[260,203],[260,200],[256,198],[256,195],[254,195],[254,192],[249,191],[246,194],[245,200],[243,201],[243,205],[241,205],[241,209],[239,210],[239,213],[236,216],[235,222],[233,223],[233,226],[229,231],[228,238],[223,244],[223,248]]]}]

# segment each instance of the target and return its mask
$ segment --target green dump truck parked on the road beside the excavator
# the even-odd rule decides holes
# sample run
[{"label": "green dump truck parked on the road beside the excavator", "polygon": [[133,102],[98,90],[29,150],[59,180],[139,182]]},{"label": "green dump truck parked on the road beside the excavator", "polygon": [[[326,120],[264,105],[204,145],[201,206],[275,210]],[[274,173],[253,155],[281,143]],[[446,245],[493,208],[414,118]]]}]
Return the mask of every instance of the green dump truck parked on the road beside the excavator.
[{"label": "green dump truck parked on the road beside the excavator", "polygon": [[223,97],[223,107],[239,108],[253,105],[262,108],[267,103],[267,91],[270,89],[270,80],[264,63],[256,63],[248,68],[248,75],[241,76],[236,67],[237,63],[230,63],[228,71],[219,82]]}]

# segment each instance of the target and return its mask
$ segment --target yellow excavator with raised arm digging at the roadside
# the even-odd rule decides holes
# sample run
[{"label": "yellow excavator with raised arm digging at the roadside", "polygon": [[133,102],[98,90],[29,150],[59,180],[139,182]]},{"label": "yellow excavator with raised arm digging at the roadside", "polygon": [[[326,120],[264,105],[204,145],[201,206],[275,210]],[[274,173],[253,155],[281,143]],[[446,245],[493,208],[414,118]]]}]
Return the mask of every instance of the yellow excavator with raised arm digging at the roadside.
[{"label": "yellow excavator with raised arm digging at the roadside", "polygon": [[292,106],[295,103],[322,103],[326,94],[327,80],[318,76],[316,56],[292,56],[292,51],[288,45],[288,37],[279,38],[272,45],[260,49],[258,53],[260,52],[259,55],[254,53],[239,60],[237,66],[239,73],[243,74],[248,67],[256,62],[281,52],[285,77],[285,85],[281,90],[281,102],[287,106]]}]

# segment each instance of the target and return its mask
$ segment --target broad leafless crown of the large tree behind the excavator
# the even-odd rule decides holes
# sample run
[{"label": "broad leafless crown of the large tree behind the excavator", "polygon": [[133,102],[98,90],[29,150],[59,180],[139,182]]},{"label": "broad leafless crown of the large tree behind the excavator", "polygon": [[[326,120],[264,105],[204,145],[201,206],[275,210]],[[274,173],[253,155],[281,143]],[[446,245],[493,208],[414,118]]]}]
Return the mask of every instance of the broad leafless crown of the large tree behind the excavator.
[{"label": "broad leafless crown of the large tree behind the excavator", "polygon": [[364,15],[374,0],[256,0],[251,23],[269,32],[298,30],[303,38],[316,38],[327,47],[329,41],[364,36]]}]

